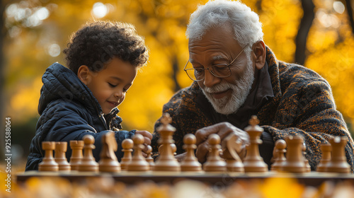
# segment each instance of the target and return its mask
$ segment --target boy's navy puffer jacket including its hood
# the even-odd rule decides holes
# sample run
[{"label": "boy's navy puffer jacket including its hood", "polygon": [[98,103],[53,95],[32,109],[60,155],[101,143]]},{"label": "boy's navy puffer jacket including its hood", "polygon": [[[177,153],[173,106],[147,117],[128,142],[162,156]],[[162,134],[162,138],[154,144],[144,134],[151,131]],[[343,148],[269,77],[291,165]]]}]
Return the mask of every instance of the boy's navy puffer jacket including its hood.
[{"label": "boy's navy puffer jacket including its hood", "polygon": [[40,119],[36,126],[35,136],[30,144],[25,170],[38,170],[44,151],[42,141],[67,141],[69,159],[72,151],[70,140],[81,140],[84,135],[95,137],[96,149],[93,156],[99,161],[101,136],[110,130],[115,132],[118,142],[116,156],[122,158],[121,142],[131,138],[135,130],[130,132],[121,129],[122,119],[117,116],[118,108],[108,115],[103,115],[101,106],[89,88],[80,81],[73,71],[55,63],[47,68],[42,76],[43,86],[40,90],[38,112]]}]

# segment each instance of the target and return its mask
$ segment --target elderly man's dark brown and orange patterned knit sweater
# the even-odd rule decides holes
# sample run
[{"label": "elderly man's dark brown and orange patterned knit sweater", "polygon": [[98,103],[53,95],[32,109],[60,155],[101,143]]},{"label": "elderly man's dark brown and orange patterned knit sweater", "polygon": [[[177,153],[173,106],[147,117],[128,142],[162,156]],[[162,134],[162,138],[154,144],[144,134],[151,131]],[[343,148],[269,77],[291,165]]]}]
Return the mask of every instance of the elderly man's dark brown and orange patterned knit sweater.
[{"label": "elderly man's dark brown and orange patterned knit sweater", "polygon": [[[321,159],[321,144],[328,143],[333,136],[348,136],[345,152],[353,172],[353,138],[341,113],[336,110],[329,83],[304,66],[278,61],[268,47],[266,53],[274,97],[263,103],[256,112],[260,127],[270,134],[273,141],[285,139],[289,135],[302,136],[307,147],[306,158],[312,170],[315,170]],[[178,91],[164,105],[163,112],[169,112],[171,125],[176,127],[173,139],[176,141],[177,153],[184,152],[182,146],[185,134],[195,134],[202,127],[216,124],[203,110],[206,107],[196,102],[198,97],[205,96],[198,83],[193,83]],[[156,121],[152,139],[155,152],[159,139],[156,128],[161,124],[160,119]]]}]

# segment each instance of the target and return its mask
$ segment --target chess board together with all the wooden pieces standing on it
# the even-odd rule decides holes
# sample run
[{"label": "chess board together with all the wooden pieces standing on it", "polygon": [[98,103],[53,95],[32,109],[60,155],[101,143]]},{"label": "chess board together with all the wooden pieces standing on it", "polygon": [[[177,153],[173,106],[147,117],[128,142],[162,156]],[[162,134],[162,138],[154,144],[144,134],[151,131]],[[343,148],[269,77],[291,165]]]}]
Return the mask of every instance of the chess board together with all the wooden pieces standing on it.
[{"label": "chess board together with all the wooden pieces standing on it", "polygon": [[[243,161],[236,153],[240,144],[237,136],[228,136],[221,145],[217,134],[212,134],[207,141],[210,153],[203,164],[195,158],[195,136],[188,134],[183,139],[186,150],[185,158],[181,162],[173,156],[176,147],[173,147],[172,135],[174,128],[169,125],[169,117],[162,119],[163,125],[157,130],[161,137],[159,143],[159,157],[156,161],[149,156],[142,155],[144,138],[136,134],[132,139],[122,141],[124,156],[118,162],[115,151],[117,142],[113,132],[103,135],[101,159],[96,162],[93,158],[94,139],[91,135],[84,136],[82,141],[70,141],[72,157],[69,162],[65,158],[67,142],[42,142],[45,157],[39,164],[39,171],[27,171],[16,175],[17,182],[25,182],[31,177],[61,177],[71,182],[87,180],[89,178],[110,177],[117,182],[135,185],[137,182],[167,182],[173,184],[181,180],[195,180],[209,185],[227,186],[240,180],[265,180],[268,178],[292,178],[307,186],[319,186],[325,181],[354,183],[354,174],[346,162],[344,146],[348,139],[336,137],[330,140],[331,145],[322,146],[322,159],[318,165],[319,171],[311,171],[309,163],[304,158],[303,140],[300,136],[289,136],[285,140],[275,142],[273,156],[275,162],[268,168],[259,155],[258,144],[261,127],[253,117],[251,125],[245,130],[250,136],[250,145]],[[331,147],[329,147],[331,146]],[[285,150],[285,148],[287,148]],[[331,149],[329,149],[331,148]],[[53,151],[55,150],[55,158]],[[134,155],[132,155],[132,151]],[[151,152],[152,149],[149,149]],[[84,151],[84,155],[82,155]],[[220,157],[222,151],[223,158]],[[287,156],[285,158],[285,152]],[[330,152],[333,152],[332,155]],[[150,157],[150,158],[149,158]],[[321,168],[321,169],[319,169]],[[270,169],[270,170],[269,170]]]}]

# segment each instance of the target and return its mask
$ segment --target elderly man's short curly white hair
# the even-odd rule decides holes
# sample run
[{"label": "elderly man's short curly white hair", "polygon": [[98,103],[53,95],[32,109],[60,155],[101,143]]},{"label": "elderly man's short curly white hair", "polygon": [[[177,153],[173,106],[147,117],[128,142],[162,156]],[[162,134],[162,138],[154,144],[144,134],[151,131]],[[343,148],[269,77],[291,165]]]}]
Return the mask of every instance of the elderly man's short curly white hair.
[{"label": "elderly man's short curly white hair", "polygon": [[[231,25],[234,38],[241,47],[251,46],[263,40],[262,23],[258,14],[240,1],[215,0],[209,1],[190,15],[185,35],[190,40],[200,40],[210,28],[220,25]],[[246,52],[249,52],[246,50]]]}]

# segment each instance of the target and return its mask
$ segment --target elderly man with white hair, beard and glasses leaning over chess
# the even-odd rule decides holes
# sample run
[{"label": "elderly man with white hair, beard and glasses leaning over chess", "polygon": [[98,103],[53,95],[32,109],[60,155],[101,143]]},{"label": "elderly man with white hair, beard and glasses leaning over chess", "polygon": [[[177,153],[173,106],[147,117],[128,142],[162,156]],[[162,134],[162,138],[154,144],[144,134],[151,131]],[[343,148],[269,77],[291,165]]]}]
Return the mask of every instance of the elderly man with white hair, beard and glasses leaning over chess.
[{"label": "elderly man with white hair, beard and glasses leaning over chess", "polygon": [[[274,142],[290,134],[304,138],[312,170],[321,158],[321,144],[333,136],[348,136],[346,157],[353,171],[353,139],[329,83],[304,66],[276,59],[263,42],[258,15],[249,7],[239,1],[210,1],[190,16],[186,35],[189,61],[184,70],[194,82],[163,109],[176,127],[178,158],[183,157],[185,134],[196,135],[201,163],[210,134],[224,139],[234,132],[247,144],[249,136],[242,129],[257,115],[264,129],[260,152],[268,165]],[[155,129],[159,125],[160,120]],[[158,138],[154,132],[154,151]]]}]

